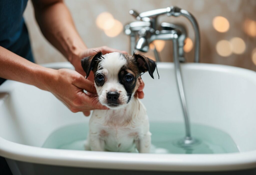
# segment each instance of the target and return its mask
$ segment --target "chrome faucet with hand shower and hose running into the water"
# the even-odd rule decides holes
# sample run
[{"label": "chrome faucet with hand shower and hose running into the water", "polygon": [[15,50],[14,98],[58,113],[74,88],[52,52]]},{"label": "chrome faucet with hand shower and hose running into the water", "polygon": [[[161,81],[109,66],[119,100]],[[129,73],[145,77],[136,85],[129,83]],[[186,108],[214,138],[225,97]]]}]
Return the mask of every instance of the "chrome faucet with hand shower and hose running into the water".
[{"label": "chrome faucet with hand shower and hose running into the water", "polygon": [[[154,40],[172,40],[173,42],[173,59],[176,73],[176,81],[180,95],[180,101],[182,104],[183,115],[185,120],[186,136],[184,139],[178,141],[178,145],[181,147],[184,146],[193,146],[199,143],[197,139],[191,137],[190,131],[190,121],[187,110],[187,103],[183,88],[182,74],[180,70],[180,62],[185,62],[184,57],[184,40],[187,37],[187,32],[183,26],[163,22],[158,27],[157,17],[159,15],[166,14],[167,16],[185,16],[190,20],[195,31],[195,53],[194,61],[199,62],[199,53],[200,53],[200,35],[199,27],[196,19],[188,11],[180,9],[178,7],[167,7],[162,9],[156,9],[151,11],[146,11],[142,13],[137,13],[134,10],[130,10],[130,14],[133,15],[137,20],[125,26],[125,33],[130,35],[131,42],[131,54],[133,50],[136,49],[141,52],[147,52],[149,49],[150,43]],[[136,41],[136,39],[138,40]],[[159,61],[159,57],[156,48],[155,48],[155,57]]]}]

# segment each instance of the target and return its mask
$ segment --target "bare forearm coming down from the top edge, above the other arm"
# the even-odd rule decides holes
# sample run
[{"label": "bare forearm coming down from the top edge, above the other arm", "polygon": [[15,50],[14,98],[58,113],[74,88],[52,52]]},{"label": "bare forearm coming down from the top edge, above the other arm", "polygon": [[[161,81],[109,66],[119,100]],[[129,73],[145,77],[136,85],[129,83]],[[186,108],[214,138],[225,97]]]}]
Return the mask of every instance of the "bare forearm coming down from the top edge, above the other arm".
[{"label": "bare forearm coming down from the top edge, above the other arm", "polygon": [[36,20],[46,39],[71,63],[87,49],[79,36],[70,12],[62,1],[33,1]]}]

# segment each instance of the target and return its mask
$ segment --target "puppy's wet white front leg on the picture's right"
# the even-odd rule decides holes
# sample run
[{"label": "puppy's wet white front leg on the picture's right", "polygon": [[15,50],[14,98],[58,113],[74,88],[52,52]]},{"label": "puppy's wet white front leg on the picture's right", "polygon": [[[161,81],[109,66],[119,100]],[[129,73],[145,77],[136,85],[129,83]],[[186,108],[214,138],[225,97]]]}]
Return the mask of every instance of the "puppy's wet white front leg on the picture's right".
[{"label": "puppy's wet white front leg on the picture's right", "polygon": [[150,153],[150,145],[151,133],[149,131],[136,141],[136,147],[139,153]]}]

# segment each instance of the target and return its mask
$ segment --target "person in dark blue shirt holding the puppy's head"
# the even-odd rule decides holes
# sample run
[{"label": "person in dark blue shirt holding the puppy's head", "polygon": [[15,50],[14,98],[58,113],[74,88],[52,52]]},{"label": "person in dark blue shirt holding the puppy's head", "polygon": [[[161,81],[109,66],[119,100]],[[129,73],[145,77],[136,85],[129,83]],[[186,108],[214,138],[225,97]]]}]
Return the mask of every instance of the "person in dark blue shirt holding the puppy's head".
[{"label": "person in dark blue shirt holding the puppy's head", "polygon": [[[45,38],[56,47],[75,70],[49,69],[34,63],[28,30],[23,12],[28,0],[0,0],[0,84],[5,79],[34,85],[54,94],[72,112],[82,111],[89,116],[90,110],[106,109],[93,103],[93,98],[83,89],[94,93],[93,74],[86,79],[80,60],[94,55],[123,52],[106,46],[87,48],[79,36],[70,12],[61,0],[32,0],[36,21]],[[86,18],[86,17],[85,17]],[[143,98],[144,84],[138,90]]]}]

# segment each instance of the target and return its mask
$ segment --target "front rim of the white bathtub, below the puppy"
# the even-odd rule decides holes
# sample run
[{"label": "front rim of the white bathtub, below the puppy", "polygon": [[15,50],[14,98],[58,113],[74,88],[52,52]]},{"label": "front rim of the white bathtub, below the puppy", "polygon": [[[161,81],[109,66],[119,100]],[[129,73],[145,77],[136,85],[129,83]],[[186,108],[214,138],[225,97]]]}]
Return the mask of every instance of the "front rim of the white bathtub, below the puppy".
[{"label": "front rim of the white bathtub, below the puppy", "polygon": [[138,154],[41,148],[0,137],[0,156],[29,163],[155,171],[227,171],[256,168],[256,151],[227,154]]}]

